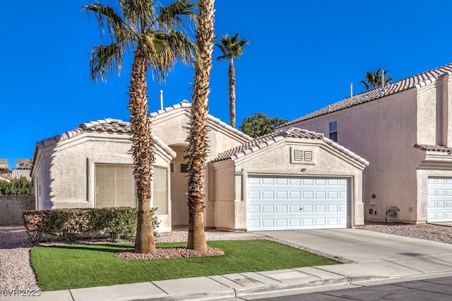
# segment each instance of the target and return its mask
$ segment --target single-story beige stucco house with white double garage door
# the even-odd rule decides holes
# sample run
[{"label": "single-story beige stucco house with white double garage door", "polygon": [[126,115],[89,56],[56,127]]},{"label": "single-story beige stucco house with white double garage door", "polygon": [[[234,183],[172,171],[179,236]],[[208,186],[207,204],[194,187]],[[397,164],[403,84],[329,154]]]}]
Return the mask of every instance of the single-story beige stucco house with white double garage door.
[{"label": "single-story beige stucco house with white double garage door", "polygon": [[[150,114],[152,206],[160,232],[188,224],[184,149],[190,113],[191,104],[180,102]],[[368,163],[359,155],[300,129],[252,139],[211,115],[208,129],[207,228],[346,228],[364,222],[362,170]],[[136,206],[130,136],[129,123],[100,119],[38,142],[36,207]]]}]

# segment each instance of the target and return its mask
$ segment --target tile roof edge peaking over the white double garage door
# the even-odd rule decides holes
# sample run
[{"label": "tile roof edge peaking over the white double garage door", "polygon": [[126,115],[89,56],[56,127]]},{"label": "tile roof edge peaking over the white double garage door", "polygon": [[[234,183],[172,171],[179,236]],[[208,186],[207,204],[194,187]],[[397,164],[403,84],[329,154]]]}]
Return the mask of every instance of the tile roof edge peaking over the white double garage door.
[{"label": "tile roof edge peaking over the white double garage door", "polygon": [[353,153],[352,151],[340,146],[338,143],[335,143],[329,138],[323,136],[323,134],[316,133],[314,131],[307,131],[306,129],[299,129],[295,127],[281,129],[279,131],[275,131],[274,133],[263,135],[253,140],[242,144],[241,146],[237,146],[236,148],[231,148],[229,151],[225,151],[218,155],[218,158],[215,158],[213,162],[218,162],[222,160],[237,160],[238,158],[242,158],[245,155],[249,155],[250,153],[254,153],[262,148],[266,148],[274,143],[278,143],[283,141],[285,138],[304,138],[304,139],[314,139],[314,140],[323,140],[329,146],[337,149],[341,153],[349,156],[350,158],[356,160],[357,162],[363,165],[369,165],[369,162],[364,158],[359,157],[359,155]]}]

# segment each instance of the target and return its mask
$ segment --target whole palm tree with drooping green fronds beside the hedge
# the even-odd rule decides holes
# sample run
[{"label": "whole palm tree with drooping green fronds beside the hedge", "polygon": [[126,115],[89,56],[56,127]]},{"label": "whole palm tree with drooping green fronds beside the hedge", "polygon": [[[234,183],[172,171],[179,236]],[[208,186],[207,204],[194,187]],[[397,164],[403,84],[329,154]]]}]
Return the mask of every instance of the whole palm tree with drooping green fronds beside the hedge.
[{"label": "whole palm tree with drooping green fronds beside the hedge", "polygon": [[153,71],[159,80],[172,69],[176,61],[191,64],[196,44],[184,33],[185,20],[194,20],[194,4],[188,0],[161,6],[149,0],[119,0],[120,11],[112,6],[90,4],[83,10],[93,13],[100,28],[107,28],[111,43],[93,47],[90,72],[93,81],[105,81],[107,73],[121,70],[126,52],[133,52],[129,86],[129,110],[132,131],[132,156],[135,165],[138,199],[138,225],[135,252],[155,252],[155,240],[150,210],[150,183],[155,160],[148,116],[148,85],[146,73]]}]

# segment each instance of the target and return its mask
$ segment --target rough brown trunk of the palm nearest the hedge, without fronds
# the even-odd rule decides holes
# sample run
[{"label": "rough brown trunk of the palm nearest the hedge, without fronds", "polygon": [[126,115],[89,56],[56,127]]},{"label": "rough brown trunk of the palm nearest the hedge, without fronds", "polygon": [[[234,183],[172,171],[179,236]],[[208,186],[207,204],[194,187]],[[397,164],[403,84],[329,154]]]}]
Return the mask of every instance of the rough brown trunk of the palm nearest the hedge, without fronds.
[{"label": "rough brown trunk of the palm nearest the hedge, without fronds", "polygon": [[136,226],[135,252],[155,252],[152,213],[150,210],[151,166],[155,160],[153,140],[150,138],[150,117],[148,116],[148,84],[146,71],[148,57],[140,46],[133,58],[129,86],[129,110],[132,131],[132,156],[135,164],[133,174],[136,179],[138,198],[138,223]]}]

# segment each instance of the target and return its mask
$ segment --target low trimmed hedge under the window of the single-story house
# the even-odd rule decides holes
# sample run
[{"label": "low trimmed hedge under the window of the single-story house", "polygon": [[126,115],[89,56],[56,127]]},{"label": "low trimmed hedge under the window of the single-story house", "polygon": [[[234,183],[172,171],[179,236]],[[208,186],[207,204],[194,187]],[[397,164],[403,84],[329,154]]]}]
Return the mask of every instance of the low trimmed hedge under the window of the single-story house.
[{"label": "low trimmed hedge under the window of the single-story house", "polygon": [[[154,235],[160,221],[152,210]],[[73,242],[80,238],[109,237],[115,241],[121,237],[135,237],[138,208],[65,208],[29,210],[22,215],[28,236],[33,243],[44,240],[44,235],[66,237]]]}]

